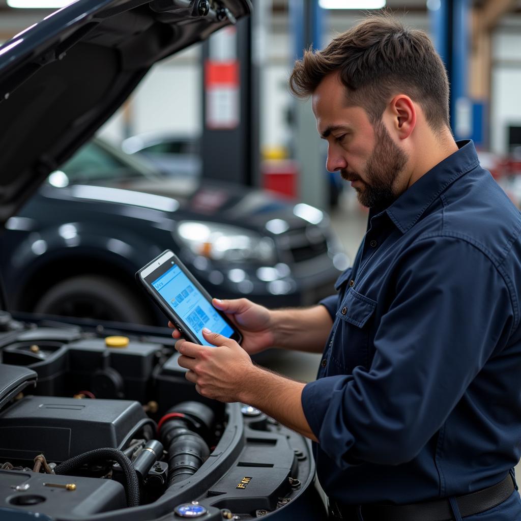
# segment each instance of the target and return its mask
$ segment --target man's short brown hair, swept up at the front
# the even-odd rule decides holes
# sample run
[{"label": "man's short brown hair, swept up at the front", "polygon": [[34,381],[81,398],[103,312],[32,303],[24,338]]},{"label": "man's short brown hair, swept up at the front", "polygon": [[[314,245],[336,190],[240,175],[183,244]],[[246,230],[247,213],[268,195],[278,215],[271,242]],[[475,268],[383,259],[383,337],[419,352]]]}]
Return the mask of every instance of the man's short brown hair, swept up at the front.
[{"label": "man's short brown hair, swept up at the front", "polygon": [[424,31],[406,29],[388,13],[366,18],[323,51],[305,51],[291,73],[291,92],[307,97],[337,71],[349,105],[363,107],[372,123],[403,93],[419,103],[433,130],[449,126],[449,81],[440,56]]}]

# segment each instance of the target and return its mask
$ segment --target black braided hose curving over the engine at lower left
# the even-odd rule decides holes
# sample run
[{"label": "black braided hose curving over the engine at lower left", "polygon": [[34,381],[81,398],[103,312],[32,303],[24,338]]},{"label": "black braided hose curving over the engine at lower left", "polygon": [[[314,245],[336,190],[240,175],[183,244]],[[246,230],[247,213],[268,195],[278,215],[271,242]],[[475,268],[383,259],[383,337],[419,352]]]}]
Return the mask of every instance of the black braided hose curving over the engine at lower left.
[{"label": "black braided hose curving over the engine at lower left", "polygon": [[139,483],[138,476],[135,473],[132,462],[129,458],[118,449],[105,448],[105,449],[94,449],[93,451],[84,452],[78,454],[78,456],[71,457],[70,460],[66,460],[60,463],[55,469],[55,474],[68,474],[71,470],[81,467],[85,463],[89,463],[92,460],[111,460],[119,463],[125,473],[125,479],[127,481],[127,487],[125,494],[127,496],[128,506],[139,506]]}]

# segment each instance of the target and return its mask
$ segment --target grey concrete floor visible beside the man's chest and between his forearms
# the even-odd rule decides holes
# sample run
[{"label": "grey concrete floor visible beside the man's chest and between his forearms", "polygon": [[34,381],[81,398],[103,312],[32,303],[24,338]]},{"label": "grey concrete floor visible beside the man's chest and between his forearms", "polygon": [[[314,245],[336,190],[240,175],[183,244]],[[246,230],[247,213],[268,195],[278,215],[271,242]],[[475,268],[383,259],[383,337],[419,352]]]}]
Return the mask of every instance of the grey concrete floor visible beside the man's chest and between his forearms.
[{"label": "grey concrete floor visible beside the man's chest and between his forearms", "polygon": [[[331,228],[337,233],[352,261],[367,226],[367,212],[356,202],[353,190],[347,188],[342,193],[339,207],[330,212],[330,217]],[[331,294],[333,293],[334,289],[331,288]],[[262,353],[258,363],[295,380],[309,382],[316,378],[320,358],[320,354],[270,350]],[[521,463],[515,470],[516,475],[521,476]]]}]

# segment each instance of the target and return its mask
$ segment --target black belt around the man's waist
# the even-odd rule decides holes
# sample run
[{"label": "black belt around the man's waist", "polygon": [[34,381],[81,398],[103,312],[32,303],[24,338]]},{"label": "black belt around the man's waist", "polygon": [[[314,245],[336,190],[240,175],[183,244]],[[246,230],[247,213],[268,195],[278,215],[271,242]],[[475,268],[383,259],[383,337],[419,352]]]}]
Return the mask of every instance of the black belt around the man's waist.
[{"label": "black belt around the man's waist", "polygon": [[[486,489],[456,497],[462,517],[485,512],[505,501],[514,491],[514,481],[509,473],[505,479]],[[357,519],[358,506],[334,505],[333,511],[340,513],[341,519]],[[359,505],[364,521],[451,521],[454,519],[448,498],[408,505],[367,504]]]}]

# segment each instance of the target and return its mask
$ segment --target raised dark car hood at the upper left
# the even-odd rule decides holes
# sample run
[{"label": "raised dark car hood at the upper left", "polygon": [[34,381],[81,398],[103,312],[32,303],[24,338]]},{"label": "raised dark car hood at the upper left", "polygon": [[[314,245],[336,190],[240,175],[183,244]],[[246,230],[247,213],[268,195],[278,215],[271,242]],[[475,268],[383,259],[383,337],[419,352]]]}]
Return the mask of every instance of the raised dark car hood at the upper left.
[{"label": "raised dark car hood at the upper left", "polygon": [[1,225],[156,61],[250,11],[249,0],[77,0],[0,47]]}]

